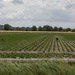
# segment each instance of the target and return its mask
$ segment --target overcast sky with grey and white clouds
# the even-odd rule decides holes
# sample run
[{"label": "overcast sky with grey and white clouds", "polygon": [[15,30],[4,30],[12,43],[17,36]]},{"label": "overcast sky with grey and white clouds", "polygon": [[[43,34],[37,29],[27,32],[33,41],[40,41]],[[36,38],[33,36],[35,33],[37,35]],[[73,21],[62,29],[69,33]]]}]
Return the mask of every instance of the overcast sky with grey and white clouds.
[{"label": "overcast sky with grey and white clouds", "polygon": [[75,0],[0,0],[0,24],[75,28]]}]

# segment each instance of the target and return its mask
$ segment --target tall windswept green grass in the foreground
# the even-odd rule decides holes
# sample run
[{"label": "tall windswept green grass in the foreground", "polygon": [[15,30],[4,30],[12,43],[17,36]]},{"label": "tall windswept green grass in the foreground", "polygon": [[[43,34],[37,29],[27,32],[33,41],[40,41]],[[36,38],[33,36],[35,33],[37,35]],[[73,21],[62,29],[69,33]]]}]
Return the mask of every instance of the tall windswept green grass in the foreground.
[{"label": "tall windswept green grass in the foreground", "polygon": [[75,64],[64,62],[0,62],[0,75],[75,75]]}]

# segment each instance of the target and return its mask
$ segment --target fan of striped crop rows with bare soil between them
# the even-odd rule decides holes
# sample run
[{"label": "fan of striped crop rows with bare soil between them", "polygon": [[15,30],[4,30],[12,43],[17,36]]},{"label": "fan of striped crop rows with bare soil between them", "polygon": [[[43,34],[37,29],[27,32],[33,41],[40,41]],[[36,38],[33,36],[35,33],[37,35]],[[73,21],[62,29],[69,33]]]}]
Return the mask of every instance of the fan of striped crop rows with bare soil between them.
[{"label": "fan of striped crop rows with bare soil between them", "polygon": [[[57,41],[56,38],[59,40]],[[60,36],[45,37],[41,42],[36,41],[23,48],[25,51],[38,51],[44,53],[75,52],[74,43],[62,39]]]}]

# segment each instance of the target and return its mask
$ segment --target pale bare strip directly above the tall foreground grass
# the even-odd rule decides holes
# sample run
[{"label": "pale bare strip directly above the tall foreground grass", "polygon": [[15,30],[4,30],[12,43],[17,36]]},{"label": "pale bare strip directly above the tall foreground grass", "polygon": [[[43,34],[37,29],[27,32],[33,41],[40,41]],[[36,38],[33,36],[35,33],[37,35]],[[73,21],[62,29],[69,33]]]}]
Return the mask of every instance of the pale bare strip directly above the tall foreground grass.
[{"label": "pale bare strip directly above the tall foreground grass", "polygon": [[64,61],[75,62],[75,58],[0,58],[0,61]]}]

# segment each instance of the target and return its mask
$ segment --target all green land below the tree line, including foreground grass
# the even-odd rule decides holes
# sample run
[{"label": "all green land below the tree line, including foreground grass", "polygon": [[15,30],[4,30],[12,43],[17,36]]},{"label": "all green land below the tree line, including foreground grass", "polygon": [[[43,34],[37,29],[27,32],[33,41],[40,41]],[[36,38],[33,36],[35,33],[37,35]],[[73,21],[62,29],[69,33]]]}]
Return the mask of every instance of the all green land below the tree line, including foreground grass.
[{"label": "all green land below the tree line, including foreground grass", "polygon": [[0,75],[75,75],[75,33],[0,32]]}]

